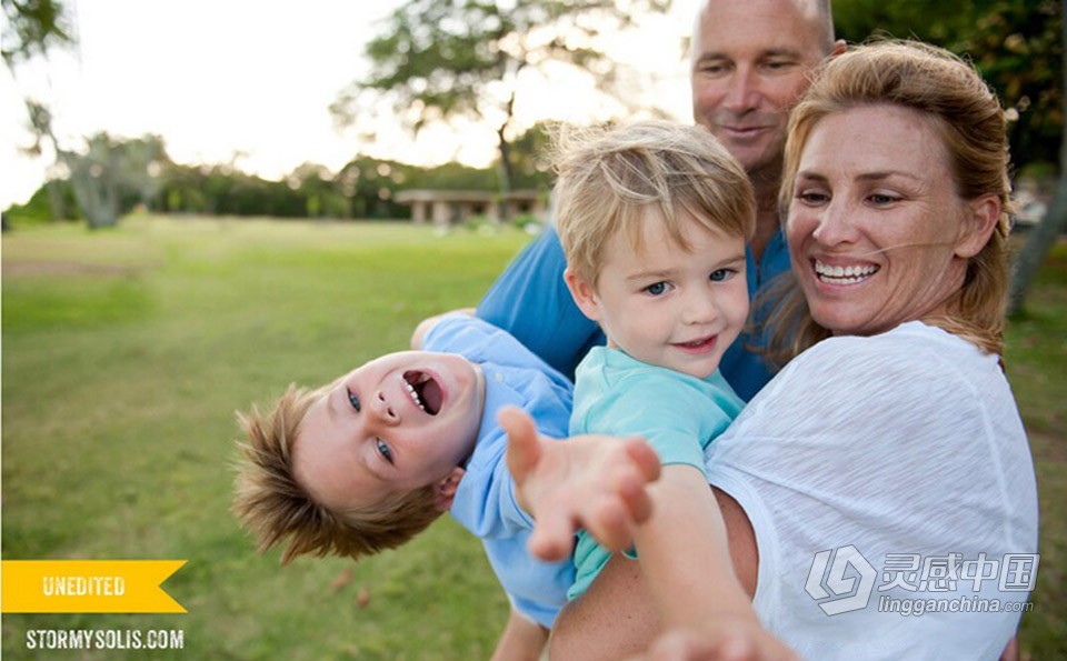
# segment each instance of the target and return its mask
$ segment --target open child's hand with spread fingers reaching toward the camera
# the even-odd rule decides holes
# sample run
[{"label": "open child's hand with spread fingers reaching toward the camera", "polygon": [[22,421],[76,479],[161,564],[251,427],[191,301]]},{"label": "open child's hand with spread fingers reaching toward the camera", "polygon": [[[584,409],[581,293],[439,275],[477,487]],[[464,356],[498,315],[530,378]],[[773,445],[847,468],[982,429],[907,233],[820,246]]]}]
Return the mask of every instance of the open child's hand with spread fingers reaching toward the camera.
[{"label": "open child's hand with spread fingers reaching toward the camera", "polygon": [[651,514],[646,484],[659,477],[659,458],[639,438],[539,437],[534,421],[515,407],[497,421],[508,432],[508,469],[519,504],[537,520],[530,552],[562,560],[585,528],[612,551],[632,544],[632,525]]}]

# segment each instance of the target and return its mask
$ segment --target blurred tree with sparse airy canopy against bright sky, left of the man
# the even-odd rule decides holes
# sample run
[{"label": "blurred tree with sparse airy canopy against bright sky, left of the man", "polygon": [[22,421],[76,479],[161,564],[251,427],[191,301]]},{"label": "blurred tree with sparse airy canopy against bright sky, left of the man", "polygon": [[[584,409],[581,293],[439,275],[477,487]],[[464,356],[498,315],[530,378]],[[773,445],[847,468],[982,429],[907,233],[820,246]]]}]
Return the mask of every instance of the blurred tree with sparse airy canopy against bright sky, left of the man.
[{"label": "blurred tree with sparse airy canopy against bright sky, left of the man", "polygon": [[[638,12],[665,11],[670,0],[408,0],[385,33],[367,44],[372,72],[331,106],[352,123],[382,96],[416,133],[431,122],[463,118],[491,126],[499,146],[500,188],[511,190],[510,140],[519,83],[550,64],[588,72],[601,90],[615,66],[600,37],[634,24]],[[370,93],[370,99],[367,93]]]}]

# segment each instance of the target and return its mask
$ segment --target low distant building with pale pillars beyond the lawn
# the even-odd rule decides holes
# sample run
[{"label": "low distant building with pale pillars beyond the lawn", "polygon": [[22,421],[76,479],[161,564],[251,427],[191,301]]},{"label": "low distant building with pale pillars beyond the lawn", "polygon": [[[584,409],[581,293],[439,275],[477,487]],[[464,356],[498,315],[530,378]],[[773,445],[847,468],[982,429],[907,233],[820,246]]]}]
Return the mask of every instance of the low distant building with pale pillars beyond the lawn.
[{"label": "low distant building with pale pillars beyond the lawn", "polygon": [[393,200],[411,206],[411,222],[416,224],[460,224],[476,216],[493,222],[511,220],[521,213],[545,216],[545,196],[536,190],[517,190],[501,198],[481,190],[409,189],[398,191]]}]

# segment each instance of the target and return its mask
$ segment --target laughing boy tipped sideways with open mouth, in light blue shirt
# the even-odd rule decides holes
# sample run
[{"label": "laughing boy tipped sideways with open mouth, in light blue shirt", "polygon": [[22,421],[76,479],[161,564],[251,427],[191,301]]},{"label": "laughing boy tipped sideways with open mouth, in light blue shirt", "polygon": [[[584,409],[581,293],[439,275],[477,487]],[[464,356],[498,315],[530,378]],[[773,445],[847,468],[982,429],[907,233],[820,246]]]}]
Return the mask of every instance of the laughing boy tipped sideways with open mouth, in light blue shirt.
[{"label": "laughing boy tipped sideways with open mouth, in light blue shirt", "polygon": [[241,423],[235,511],[260,550],[289,540],[359,559],[403,544],[448,511],[485,545],[512,605],[496,659],[537,659],[574,565],[535,560],[497,411],[518,407],[567,434],[571,384],[513,338],[466,314],[420,324],[421,351],[375,359],[317,390],[290,387]]}]

